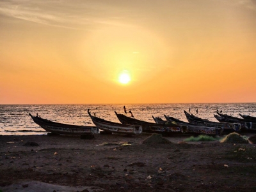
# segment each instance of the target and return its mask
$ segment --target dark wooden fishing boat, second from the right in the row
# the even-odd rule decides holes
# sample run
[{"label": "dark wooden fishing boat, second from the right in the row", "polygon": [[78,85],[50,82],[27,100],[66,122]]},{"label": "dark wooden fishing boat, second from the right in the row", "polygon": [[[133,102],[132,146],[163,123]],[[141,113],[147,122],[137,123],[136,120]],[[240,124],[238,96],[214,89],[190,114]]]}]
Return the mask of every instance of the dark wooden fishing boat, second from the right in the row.
[{"label": "dark wooden fishing boat, second from the right in the row", "polygon": [[241,119],[239,117],[233,117],[227,114],[220,114],[217,112],[218,115],[214,115],[214,117],[220,122],[238,122],[241,124],[242,129],[256,129],[256,122],[250,122],[246,119]]}]

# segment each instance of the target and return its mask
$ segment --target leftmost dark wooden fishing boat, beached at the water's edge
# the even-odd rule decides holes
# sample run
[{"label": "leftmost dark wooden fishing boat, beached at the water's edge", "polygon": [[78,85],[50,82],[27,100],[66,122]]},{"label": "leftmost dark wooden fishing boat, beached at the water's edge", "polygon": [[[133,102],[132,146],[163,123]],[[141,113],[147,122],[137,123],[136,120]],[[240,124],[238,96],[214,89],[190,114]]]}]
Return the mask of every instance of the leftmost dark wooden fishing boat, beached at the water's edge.
[{"label": "leftmost dark wooden fishing boat, beached at the water's edge", "polygon": [[29,116],[36,124],[45,129],[45,131],[58,135],[81,135],[81,138],[93,138],[93,134],[99,133],[99,129],[96,126],[64,124],[50,121],[48,119],[43,119],[38,115],[34,116],[30,113]]}]

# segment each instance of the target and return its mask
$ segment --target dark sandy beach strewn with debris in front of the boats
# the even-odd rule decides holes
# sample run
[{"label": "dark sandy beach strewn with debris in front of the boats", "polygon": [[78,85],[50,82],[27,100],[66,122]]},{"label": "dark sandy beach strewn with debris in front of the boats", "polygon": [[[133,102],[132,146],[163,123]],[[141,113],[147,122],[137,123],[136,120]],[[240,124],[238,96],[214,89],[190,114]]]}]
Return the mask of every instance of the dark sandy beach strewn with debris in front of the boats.
[{"label": "dark sandy beach strewn with debris in front of the boats", "polygon": [[256,191],[256,145],[150,135],[0,136],[0,191]]}]

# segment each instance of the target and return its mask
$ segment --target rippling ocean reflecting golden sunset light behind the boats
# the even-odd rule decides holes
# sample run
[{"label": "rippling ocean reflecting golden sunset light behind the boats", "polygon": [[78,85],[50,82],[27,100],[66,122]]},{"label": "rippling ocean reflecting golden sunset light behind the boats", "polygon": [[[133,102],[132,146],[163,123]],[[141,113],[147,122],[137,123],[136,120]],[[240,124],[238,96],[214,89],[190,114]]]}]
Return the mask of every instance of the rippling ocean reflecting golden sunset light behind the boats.
[{"label": "rippling ocean reflecting golden sunset light behind the boats", "polygon": [[[92,114],[108,121],[119,122],[115,112],[124,114],[124,105],[0,105],[0,135],[46,135],[28,115],[38,114],[51,121],[67,124],[94,126],[87,114],[90,108]],[[214,114],[222,110],[223,114],[240,117],[246,114],[256,117],[256,103],[162,103],[162,104],[127,104],[127,115],[143,121],[154,122],[152,115],[164,119],[170,115],[182,121],[187,121],[184,110],[191,108],[191,113],[210,121],[218,122]],[[196,114],[196,109],[198,113]]]}]

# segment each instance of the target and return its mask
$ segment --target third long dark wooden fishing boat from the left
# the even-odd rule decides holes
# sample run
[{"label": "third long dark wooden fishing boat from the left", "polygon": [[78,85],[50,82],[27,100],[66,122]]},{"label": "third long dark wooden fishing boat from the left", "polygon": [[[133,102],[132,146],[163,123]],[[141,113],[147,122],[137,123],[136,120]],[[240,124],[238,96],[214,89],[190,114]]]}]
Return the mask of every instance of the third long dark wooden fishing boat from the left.
[{"label": "third long dark wooden fishing boat from the left", "polygon": [[164,124],[156,124],[154,122],[141,121],[139,119],[127,117],[126,115],[116,113],[116,111],[115,114],[122,124],[140,125],[143,129],[143,132],[147,133],[186,133],[186,131],[188,131],[187,126],[166,126]]}]

